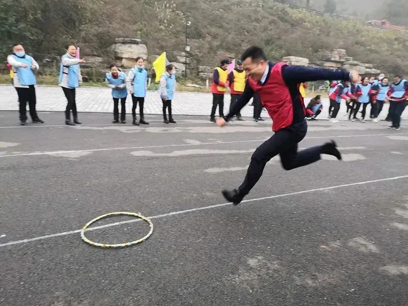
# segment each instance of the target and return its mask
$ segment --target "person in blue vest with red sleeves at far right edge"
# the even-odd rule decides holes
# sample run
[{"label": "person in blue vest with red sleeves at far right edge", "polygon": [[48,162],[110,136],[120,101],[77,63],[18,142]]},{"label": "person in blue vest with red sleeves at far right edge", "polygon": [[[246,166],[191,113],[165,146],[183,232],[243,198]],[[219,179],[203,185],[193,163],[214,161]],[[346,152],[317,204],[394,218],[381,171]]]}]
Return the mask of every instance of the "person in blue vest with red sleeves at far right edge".
[{"label": "person in blue vest with red sleeves at far right edge", "polygon": [[408,81],[402,80],[400,75],[395,75],[391,83],[391,96],[387,98],[390,101],[390,113],[392,124],[388,126],[391,130],[400,130],[401,114],[407,103]]}]

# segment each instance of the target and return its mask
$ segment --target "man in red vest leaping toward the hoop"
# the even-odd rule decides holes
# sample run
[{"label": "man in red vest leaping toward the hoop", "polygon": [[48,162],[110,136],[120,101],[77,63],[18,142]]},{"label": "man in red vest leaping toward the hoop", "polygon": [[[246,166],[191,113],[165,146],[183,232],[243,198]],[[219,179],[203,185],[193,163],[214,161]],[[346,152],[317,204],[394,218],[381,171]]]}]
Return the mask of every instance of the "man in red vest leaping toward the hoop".
[{"label": "man in red vest leaping toward the hoop", "polygon": [[226,121],[248,103],[254,93],[258,93],[273,120],[272,130],[275,134],[253,153],[241,186],[234,190],[222,191],[223,196],[235,205],[242,201],[261,178],[266,163],[278,154],[285,170],[314,163],[320,159],[321,154],[333,155],[341,160],[341,154],[334,141],[297,151],[298,142],[304,138],[308,130],[299,84],[317,80],[356,82],[358,78],[356,72],[289,66],[282,62],[271,63],[267,61],[263,50],[254,46],[245,50],[242,61],[248,75],[244,92],[225,119],[218,119],[217,125],[225,125]]}]

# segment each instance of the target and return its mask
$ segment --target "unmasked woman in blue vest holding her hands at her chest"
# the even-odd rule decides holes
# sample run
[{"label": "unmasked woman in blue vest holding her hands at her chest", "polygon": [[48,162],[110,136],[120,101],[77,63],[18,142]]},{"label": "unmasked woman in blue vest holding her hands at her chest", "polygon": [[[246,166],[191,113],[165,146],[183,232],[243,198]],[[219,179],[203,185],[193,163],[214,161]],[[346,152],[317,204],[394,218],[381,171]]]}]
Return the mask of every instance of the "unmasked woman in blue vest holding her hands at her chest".
[{"label": "unmasked woman in blue vest holding her hands at her chest", "polygon": [[126,123],[126,75],[119,70],[116,65],[110,65],[111,72],[105,75],[105,82],[112,88],[113,97],[113,121],[112,123],[119,123],[119,99],[120,99],[120,122]]}]

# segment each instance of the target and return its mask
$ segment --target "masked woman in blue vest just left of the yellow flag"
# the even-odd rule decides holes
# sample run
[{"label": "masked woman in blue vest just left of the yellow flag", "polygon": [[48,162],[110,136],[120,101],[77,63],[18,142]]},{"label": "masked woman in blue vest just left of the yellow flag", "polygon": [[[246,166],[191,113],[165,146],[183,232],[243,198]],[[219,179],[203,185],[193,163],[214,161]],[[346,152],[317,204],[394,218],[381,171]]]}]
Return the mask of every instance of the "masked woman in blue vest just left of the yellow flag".
[{"label": "masked woman in blue vest just left of the yellow flag", "polygon": [[133,124],[139,125],[136,118],[136,107],[139,102],[139,112],[140,112],[140,123],[149,124],[149,122],[144,120],[143,104],[144,98],[146,97],[146,87],[147,87],[147,71],[144,69],[144,60],[141,57],[136,58],[136,65],[127,73],[126,78],[127,90],[132,95],[132,115]]}]

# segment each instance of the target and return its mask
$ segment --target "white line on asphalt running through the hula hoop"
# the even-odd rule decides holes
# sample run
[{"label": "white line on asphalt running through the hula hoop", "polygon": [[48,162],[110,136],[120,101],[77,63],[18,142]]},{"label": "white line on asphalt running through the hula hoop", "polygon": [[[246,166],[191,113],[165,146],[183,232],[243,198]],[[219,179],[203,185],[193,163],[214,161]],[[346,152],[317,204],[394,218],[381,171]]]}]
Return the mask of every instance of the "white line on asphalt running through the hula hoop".
[{"label": "white line on asphalt running through the hula hoop", "polygon": [[[323,188],[309,189],[309,190],[303,190],[303,191],[296,191],[296,192],[291,192],[291,193],[284,193],[284,194],[265,196],[265,197],[260,197],[260,198],[243,200],[241,203],[248,203],[248,202],[261,201],[261,200],[273,199],[273,198],[278,198],[278,197],[298,195],[298,194],[302,194],[302,193],[337,189],[337,188],[350,187],[350,186],[356,186],[356,185],[364,185],[364,184],[371,184],[371,183],[384,182],[384,181],[394,181],[394,180],[407,179],[407,178],[408,178],[408,175],[387,177],[387,179],[357,182],[357,183],[350,183],[350,184],[344,184],[344,185],[337,185],[337,186],[330,186],[330,187],[323,187]],[[156,216],[152,216],[152,217],[148,217],[148,218],[149,219],[158,219],[158,218],[169,217],[169,216],[174,216],[174,215],[181,215],[181,214],[195,212],[195,211],[208,210],[208,209],[222,207],[222,206],[226,206],[226,205],[231,205],[231,203],[222,203],[222,204],[210,205],[210,206],[205,206],[205,207],[197,207],[197,208],[193,208],[193,209],[186,209],[186,210],[182,210],[182,211],[175,211],[175,212],[166,213],[166,214],[162,214],[162,215],[156,215]],[[99,230],[101,228],[106,228],[106,227],[111,227],[111,226],[121,225],[121,224],[126,224],[126,223],[133,223],[133,222],[137,222],[137,221],[140,221],[140,220],[141,219],[134,219],[134,220],[127,220],[127,221],[109,223],[109,224],[105,224],[105,225],[90,227],[87,231],[95,231],[95,230]],[[13,245],[13,244],[27,243],[27,242],[32,242],[32,241],[36,241],[36,240],[43,240],[43,239],[47,239],[47,238],[54,238],[54,237],[59,237],[59,236],[66,236],[66,235],[76,234],[76,233],[80,233],[80,232],[81,232],[81,230],[75,230],[75,231],[51,234],[51,235],[40,236],[40,237],[35,237],[35,238],[29,238],[29,239],[23,239],[23,240],[17,240],[17,241],[10,241],[10,242],[7,242],[7,243],[0,244],[0,247]]]}]

